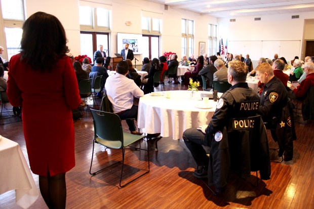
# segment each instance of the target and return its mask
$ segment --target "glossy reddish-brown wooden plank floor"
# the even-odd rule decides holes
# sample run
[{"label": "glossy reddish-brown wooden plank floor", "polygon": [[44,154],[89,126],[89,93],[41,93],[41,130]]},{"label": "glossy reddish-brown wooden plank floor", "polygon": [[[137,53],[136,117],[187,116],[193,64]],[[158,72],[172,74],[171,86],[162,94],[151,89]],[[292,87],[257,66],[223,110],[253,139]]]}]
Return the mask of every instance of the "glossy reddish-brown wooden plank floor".
[{"label": "glossy reddish-brown wooden plank floor", "polygon": [[[185,90],[183,85],[168,85],[166,90]],[[123,121],[124,127],[127,128]],[[202,181],[192,176],[195,162],[181,140],[162,138],[159,151],[150,148],[150,173],[125,188],[119,188],[121,166],[95,176],[89,174],[93,121],[91,113],[76,120],[75,167],[66,174],[67,208],[314,208],[314,123],[296,123],[297,141],[290,162],[271,162],[268,181],[258,187],[232,175],[226,193],[214,196]],[[127,131],[127,129],[125,129]],[[20,144],[28,160],[21,122],[0,126],[0,135]],[[270,146],[276,146],[268,135]],[[147,146],[141,142],[141,146]],[[120,160],[121,151],[96,147],[94,168],[107,160]],[[144,151],[126,151],[126,178],[141,172],[136,168],[147,165]],[[14,166],[14,165],[12,165]],[[138,167],[137,167],[138,166]],[[5,168],[0,168],[5,169]],[[253,173],[252,173],[253,174]],[[38,187],[38,177],[33,175]],[[0,179],[0,183],[4,180]],[[251,181],[254,181],[252,176]],[[20,208],[15,203],[15,192],[0,195],[0,208]],[[47,208],[42,196],[30,208]]]}]

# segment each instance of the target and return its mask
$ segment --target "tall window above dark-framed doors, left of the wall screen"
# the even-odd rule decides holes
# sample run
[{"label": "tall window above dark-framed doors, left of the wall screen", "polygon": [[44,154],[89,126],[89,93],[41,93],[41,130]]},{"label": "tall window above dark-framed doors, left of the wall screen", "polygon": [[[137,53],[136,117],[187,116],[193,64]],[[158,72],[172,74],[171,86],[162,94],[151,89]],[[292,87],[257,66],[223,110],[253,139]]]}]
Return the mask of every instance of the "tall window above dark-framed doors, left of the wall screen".
[{"label": "tall window above dark-framed doors, left of the wall screen", "polygon": [[80,1],[81,25],[81,55],[87,55],[93,60],[98,46],[110,56],[109,32],[111,10],[106,5]]}]

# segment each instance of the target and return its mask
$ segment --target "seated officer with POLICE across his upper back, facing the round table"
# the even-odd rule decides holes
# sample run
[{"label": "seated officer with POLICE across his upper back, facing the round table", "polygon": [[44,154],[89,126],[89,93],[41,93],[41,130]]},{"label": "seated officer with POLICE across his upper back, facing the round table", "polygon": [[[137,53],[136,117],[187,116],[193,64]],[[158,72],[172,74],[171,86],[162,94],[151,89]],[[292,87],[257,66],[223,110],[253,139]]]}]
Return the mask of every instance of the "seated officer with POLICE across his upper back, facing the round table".
[{"label": "seated officer with POLICE across his upper back, facing the round table", "polygon": [[[209,125],[187,129],[183,133],[184,143],[198,165],[198,169],[193,173],[196,178],[208,177],[209,157],[202,145],[211,146],[212,140],[221,140],[221,133],[224,127],[228,127],[229,119],[255,116],[259,107],[257,93],[246,83],[248,73],[246,64],[238,60],[228,64],[228,82],[232,87],[217,102],[216,111]],[[244,124],[244,121],[241,124]]]}]

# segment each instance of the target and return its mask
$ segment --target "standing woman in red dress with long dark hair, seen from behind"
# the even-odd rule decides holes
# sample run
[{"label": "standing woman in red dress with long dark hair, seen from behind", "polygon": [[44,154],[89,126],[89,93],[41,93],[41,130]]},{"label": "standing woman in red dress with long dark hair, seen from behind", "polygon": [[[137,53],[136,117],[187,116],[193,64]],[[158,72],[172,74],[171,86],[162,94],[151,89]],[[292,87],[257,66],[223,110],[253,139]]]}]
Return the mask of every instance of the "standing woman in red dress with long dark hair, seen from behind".
[{"label": "standing woman in red dress with long dark hair, seen from behind", "polygon": [[29,164],[49,208],[65,208],[65,173],[75,165],[71,109],[80,105],[61,22],[37,12],[23,24],[21,53],[10,60],[8,97],[22,106]]}]

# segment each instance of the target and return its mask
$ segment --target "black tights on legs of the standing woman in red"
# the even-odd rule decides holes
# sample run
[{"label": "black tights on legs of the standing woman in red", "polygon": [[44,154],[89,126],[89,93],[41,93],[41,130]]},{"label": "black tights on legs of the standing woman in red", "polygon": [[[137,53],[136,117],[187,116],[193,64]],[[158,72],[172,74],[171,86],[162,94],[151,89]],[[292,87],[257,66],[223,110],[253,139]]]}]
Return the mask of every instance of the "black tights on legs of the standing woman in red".
[{"label": "black tights on legs of the standing woman in red", "polygon": [[39,176],[41,194],[47,204],[52,208],[65,208],[66,184],[65,173],[50,176]]}]

